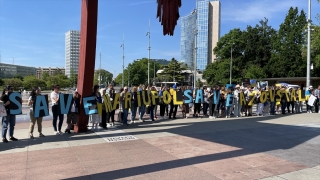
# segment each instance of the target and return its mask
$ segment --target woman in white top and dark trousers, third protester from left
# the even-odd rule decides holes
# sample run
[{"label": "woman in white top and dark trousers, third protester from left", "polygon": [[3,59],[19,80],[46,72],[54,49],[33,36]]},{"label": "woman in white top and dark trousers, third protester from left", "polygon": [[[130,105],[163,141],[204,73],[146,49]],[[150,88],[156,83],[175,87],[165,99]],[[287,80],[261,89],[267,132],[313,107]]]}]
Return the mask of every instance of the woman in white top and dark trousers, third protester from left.
[{"label": "woman in white top and dark trousers, third protester from left", "polygon": [[[50,95],[51,103],[52,103],[52,115],[53,115],[52,125],[53,125],[53,129],[54,129],[54,133],[56,135],[59,135],[59,134],[62,134],[61,127],[62,127],[62,123],[63,123],[64,114],[60,113],[60,109],[58,106],[59,96],[60,96],[60,86],[58,84],[56,84],[56,85],[54,85],[53,88],[54,89]],[[58,124],[58,129],[57,129],[58,117],[59,117],[59,124]]]}]

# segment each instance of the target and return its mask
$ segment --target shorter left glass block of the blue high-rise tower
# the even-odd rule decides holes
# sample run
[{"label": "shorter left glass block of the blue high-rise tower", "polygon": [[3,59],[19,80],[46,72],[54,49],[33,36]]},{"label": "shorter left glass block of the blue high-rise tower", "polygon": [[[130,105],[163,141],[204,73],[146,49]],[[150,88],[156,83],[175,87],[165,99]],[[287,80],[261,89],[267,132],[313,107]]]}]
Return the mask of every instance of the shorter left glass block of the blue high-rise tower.
[{"label": "shorter left glass block of the blue high-rise tower", "polygon": [[197,13],[193,10],[190,15],[181,18],[181,62],[191,69],[194,65],[195,30],[197,29]]}]

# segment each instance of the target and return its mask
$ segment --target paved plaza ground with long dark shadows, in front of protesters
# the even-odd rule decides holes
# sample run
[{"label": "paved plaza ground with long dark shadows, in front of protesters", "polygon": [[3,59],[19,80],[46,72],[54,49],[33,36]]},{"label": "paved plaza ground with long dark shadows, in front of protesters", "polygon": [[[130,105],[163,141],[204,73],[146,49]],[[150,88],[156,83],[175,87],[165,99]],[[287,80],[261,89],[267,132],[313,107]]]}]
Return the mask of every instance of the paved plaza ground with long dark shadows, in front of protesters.
[{"label": "paved plaza ground with long dark shadows, in front of protesters", "polygon": [[[319,114],[146,121],[0,143],[0,179],[320,179]],[[35,128],[36,129],[36,128]],[[37,135],[37,133],[35,133]]]}]

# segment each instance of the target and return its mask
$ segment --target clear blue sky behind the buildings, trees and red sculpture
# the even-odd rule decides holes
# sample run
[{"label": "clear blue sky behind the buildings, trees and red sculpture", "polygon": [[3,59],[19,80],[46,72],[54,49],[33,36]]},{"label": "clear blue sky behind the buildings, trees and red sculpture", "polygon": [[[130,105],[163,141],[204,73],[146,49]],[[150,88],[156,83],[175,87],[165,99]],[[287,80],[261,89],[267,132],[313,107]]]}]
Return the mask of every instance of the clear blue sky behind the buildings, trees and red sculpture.
[{"label": "clear blue sky behind the buildings, trees and red sculpture", "polygon": [[[320,4],[312,0],[312,19]],[[195,0],[182,0],[180,15],[188,15]],[[278,29],[289,8],[308,11],[308,0],[221,0],[221,36],[233,28],[255,26],[267,17]],[[148,56],[148,22],[151,22],[151,58],[180,60],[180,22],[174,36],[163,36],[156,19],[156,0],[99,0],[97,61],[114,74],[122,71],[122,36],[125,66]],[[0,0],[1,62],[64,67],[65,32],[80,29],[81,0]]]}]

